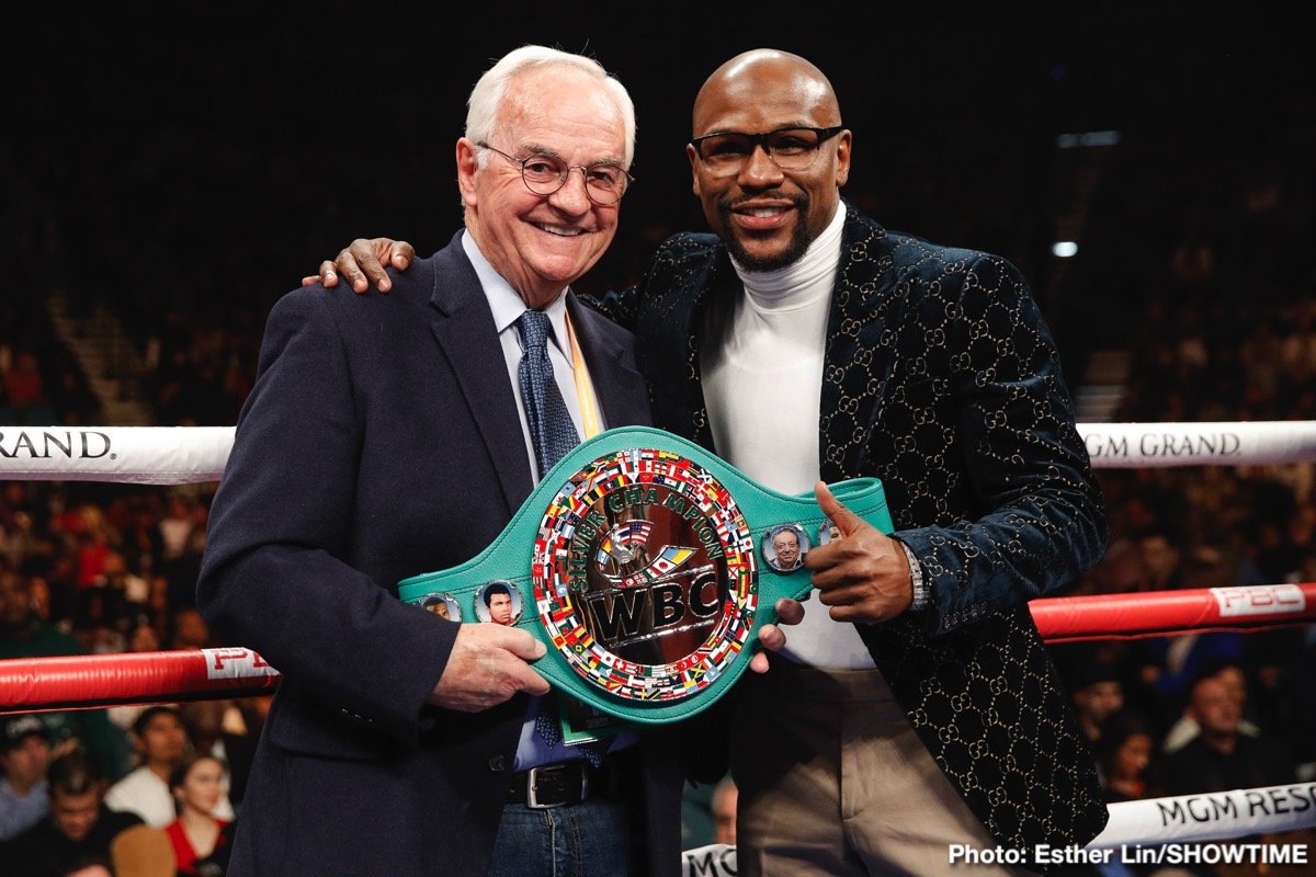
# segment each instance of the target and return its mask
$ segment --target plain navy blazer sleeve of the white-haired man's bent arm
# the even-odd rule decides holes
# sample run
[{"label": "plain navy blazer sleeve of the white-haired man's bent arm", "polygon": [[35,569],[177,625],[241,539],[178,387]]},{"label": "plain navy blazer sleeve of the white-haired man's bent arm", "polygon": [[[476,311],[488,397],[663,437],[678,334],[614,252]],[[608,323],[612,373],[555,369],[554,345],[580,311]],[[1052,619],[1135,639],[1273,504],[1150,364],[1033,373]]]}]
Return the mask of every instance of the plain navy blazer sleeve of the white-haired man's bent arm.
[{"label": "plain navy blazer sleeve of the white-haired man's bent arm", "polygon": [[[353,362],[318,288],[271,312],[212,506],[197,604],[341,718],[415,746],[458,625],[400,602],[347,557],[363,442]],[[368,534],[366,534],[368,538]]]}]

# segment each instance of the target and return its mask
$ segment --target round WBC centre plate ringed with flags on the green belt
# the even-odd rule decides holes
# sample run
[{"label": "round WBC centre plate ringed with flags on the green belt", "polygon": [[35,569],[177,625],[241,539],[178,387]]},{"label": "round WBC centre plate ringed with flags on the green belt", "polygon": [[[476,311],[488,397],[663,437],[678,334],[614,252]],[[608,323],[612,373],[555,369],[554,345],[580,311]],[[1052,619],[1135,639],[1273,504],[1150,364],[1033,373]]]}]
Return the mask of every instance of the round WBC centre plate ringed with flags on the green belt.
[{"label": "round WBC centre plate ringed with flags on the green belt", "polygon": [[630,448],[580,469],[549,505],[536,606],[572,669],[604,690],[686,697],[747,640],[754,564],[749,526],[711,473]]}]

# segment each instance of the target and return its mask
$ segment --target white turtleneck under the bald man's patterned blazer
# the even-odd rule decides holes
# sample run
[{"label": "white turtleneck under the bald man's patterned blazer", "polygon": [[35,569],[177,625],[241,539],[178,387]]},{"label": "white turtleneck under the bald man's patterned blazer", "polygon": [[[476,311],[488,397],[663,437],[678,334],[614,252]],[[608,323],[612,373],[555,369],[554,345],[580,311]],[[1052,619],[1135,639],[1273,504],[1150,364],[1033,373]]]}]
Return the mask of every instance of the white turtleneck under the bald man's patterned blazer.
[{"label": "white turtleneck under the bald man's patterned blazer", "polygon": [[[708,313],[700,371],[717,454],[782,493],[812,494],[820,476],[822,354],[844,225],[838,206],[804,255],[778,271],[749,271],[733,259],[745,295]],[[786,638],[782,653],[804,664],[874,667],[854,625],[833,622],[817,601]]]}]

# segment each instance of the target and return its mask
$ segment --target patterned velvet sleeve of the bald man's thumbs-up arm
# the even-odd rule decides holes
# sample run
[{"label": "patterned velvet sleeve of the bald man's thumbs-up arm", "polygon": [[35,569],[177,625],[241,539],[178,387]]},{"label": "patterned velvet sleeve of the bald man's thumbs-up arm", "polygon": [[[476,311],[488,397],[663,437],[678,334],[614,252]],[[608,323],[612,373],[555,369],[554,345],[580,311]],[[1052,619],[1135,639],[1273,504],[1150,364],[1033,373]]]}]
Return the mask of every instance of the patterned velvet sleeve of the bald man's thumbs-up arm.
[{"label": "patterned velvet sleeve of the bald man's thumbs-up arm", "polygon": [[[1059,354],[1019,271],[971,262],[938,321],[973,514],[896,535],[923,565],[941,634],[1074,584],[1105,551],[1107,518],[1061,375]],[[926,304],[926,302],[925,302]]]}]

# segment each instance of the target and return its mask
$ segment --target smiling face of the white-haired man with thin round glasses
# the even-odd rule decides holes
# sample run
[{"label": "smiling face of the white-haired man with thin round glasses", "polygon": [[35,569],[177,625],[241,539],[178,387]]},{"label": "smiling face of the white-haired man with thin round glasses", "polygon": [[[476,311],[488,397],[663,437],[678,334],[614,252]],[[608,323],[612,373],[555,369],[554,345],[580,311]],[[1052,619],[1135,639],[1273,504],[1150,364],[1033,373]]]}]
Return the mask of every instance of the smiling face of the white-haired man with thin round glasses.
[{"label": "smiling face of the white-haired man with thin round glasses", "polygon": [[[512,82],[490,146],[516,159],[542,153],[571,166],[625,167],[621,109],[603,83],[563,67],[534,68]],[[520,164],[465,137],[457,142],[457,170],[467,230],[529,308],[551,304],[612,243],[619,205],[591,201],[579,170],[553,195],[536,195]]]}]

